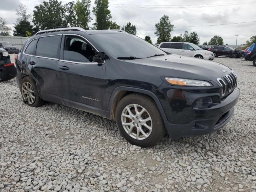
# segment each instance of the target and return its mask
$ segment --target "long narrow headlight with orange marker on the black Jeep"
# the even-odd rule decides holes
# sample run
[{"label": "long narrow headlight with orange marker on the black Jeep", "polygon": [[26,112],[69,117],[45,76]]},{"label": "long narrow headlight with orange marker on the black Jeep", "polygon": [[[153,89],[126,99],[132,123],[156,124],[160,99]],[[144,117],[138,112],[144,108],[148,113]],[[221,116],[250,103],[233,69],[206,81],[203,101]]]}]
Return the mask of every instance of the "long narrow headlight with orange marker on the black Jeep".
[{"label": "long narrow headlight with orange marker on the black Jeep", "polygon": [[192,87],[211,87],[212,84],[208,81],[194,80],[194,79],[182,79],[182,78],[172,78],[166,77],[165,80],[172,84],[178,86],[192,86]]}]

